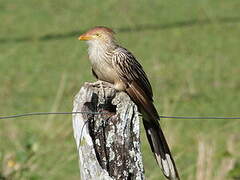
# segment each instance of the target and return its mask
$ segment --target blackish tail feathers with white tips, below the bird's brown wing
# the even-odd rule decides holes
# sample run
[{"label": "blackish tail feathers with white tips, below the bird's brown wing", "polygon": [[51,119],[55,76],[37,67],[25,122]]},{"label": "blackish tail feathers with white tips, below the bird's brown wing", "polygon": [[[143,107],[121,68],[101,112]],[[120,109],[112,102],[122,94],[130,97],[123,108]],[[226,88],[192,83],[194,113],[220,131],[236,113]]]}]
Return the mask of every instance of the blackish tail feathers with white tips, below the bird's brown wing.
[{"label": "blackish tail feathers with white tips, below the bird's brown wing", "polygon": [[155,154],[155,158],[158,165],[161,167],[163,174],[170,180],[180,180],[160,125],[156,120],[149,121],[146,119],[143,119],[143,124],[152,152]]}]

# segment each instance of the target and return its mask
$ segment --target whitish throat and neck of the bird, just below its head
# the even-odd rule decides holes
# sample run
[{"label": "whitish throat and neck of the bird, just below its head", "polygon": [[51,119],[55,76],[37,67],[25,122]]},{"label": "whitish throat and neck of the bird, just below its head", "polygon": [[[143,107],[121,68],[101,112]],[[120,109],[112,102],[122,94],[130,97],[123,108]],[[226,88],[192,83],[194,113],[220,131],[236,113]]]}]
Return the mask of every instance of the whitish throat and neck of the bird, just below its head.
[{"label": "whitish throat and neck of the bird, just below its head", "polygon": [[96,61],[100,61],[106,58],[106,55],[111,53],[117,44],[114,41],[101,42],[101,41],[89,41],[88,42],[88,55],[92,64]]}]

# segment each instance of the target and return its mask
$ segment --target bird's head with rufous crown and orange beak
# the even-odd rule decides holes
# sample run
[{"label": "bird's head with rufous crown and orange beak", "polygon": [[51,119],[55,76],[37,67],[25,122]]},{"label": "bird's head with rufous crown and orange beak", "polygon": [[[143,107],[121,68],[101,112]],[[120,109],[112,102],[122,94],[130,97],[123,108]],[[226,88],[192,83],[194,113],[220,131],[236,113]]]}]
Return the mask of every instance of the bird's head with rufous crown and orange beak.
[{"label": "bird's head with rufous crown and orange beak", "polygon": [[112,44],[115,42],[114,31],[110,28],[98,26],[94,27],[78,38],[79,40],[87,41],[89,44],[92,43],[104,43]]}]

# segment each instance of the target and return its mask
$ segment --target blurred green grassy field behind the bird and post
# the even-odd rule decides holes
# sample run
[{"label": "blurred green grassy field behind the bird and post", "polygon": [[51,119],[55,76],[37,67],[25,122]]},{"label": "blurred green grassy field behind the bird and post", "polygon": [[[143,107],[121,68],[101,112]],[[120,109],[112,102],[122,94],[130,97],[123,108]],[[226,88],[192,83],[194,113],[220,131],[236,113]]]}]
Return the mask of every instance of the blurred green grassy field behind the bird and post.
[{"label": "blurred green grassy field behind the bird and post", "polygon": [[[162,115],[240,116],[240,1],[0,3],[0,115],[71,111],[94,81],[85,30],[105,25],[144,66]],[[183,180],[240,178],[240,121],[162,119]],[[146,177],[164,179],[142,131]],[[0,179],[77,180],[71,116],[0,120]]]}]

